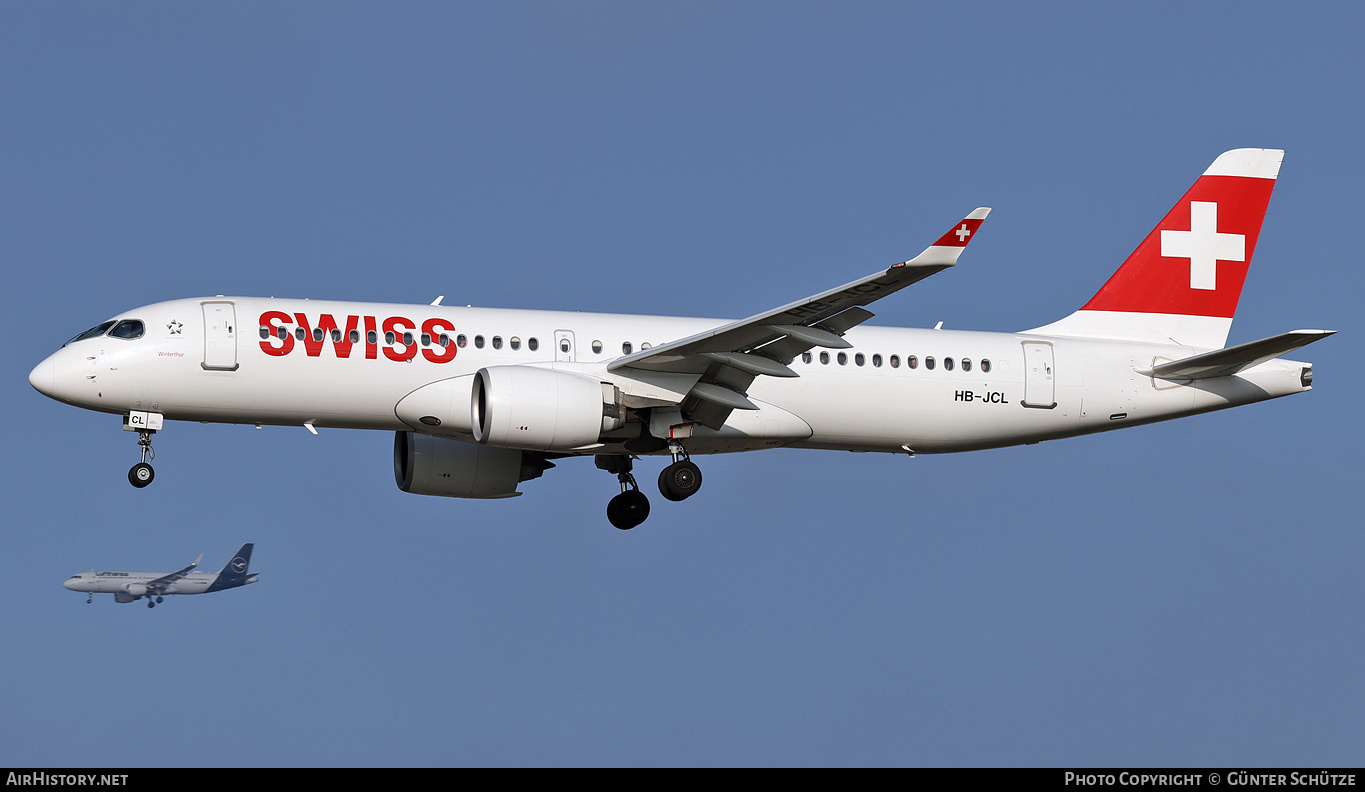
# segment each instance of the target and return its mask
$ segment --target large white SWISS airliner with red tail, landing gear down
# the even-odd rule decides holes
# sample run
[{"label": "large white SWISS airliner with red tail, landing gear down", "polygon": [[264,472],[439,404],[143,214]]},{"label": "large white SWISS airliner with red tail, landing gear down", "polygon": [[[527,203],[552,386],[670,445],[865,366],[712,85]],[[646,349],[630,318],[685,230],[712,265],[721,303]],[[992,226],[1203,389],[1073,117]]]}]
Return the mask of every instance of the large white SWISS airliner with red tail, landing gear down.
[{"label": "large white SWISS airliner with red tail, landing gear down", "polygon": [[632,475],[691,497],[692,455],[760,448],[946,453],[1072,437],[1308,391],[1280,359],[1330,330],[1224,347],[1283,152],[1218,157],[1076,313],[1017,333],[865,326],[867,306],[957,264],[988,209],[917,257],[741,321],[198,298],[120,313],[40,363],[40,392],[124,416],[134,486],[162,421],[396,433],[404,492],[504,498],[594,456],[618,528]]}]

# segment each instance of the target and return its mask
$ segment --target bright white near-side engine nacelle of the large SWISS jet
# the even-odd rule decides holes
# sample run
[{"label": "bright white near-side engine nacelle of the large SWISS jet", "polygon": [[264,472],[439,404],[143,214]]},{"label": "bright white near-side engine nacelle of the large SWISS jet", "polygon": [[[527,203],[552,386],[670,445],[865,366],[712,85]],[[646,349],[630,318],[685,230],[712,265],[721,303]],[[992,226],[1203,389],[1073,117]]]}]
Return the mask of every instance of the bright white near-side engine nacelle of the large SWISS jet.
[{"label": "bright white near-side engine nacelle of the large SWISS jet", "polygon": [[532,366],[479,369],[470,408],[474,438],[505,448],[575,451],[625,425],[616,385]]}]

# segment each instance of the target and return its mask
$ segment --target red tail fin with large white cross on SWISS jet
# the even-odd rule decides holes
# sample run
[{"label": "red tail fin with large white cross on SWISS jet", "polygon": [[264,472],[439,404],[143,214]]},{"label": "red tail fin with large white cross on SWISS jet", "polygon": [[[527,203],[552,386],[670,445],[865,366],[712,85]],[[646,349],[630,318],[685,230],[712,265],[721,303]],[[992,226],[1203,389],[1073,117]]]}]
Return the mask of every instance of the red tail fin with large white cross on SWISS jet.
[{"label": "red tail fin with large white cross on SWISS jet", "polygon": [[1283,158],[1220,156],[1091,302],[1031,332],[1222,347]]}]

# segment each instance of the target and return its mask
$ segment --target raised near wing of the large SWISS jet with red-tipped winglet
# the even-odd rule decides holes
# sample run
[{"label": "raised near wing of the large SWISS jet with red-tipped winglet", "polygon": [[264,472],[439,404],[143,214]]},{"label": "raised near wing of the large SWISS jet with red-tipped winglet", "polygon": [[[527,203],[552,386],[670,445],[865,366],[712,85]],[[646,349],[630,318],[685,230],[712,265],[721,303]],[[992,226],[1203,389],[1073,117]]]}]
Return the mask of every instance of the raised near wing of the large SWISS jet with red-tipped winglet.
[{"label": "raised near wing of the large SWISS jet with red-tipped winglet", "polygon": [[863,306],[919,283],[957,264],[958,255],[990,214],[980,208],[956,224],[924,253],[838,288],[755,314],[747,320],[617,358],[609,371],[631,369],[700,374],[681,408],[688,421],[719,429],[732,410],[758,410],[747,393],[753,378],[797,377],[788,367],[812,347],[846,350],[849,328],[872,318]]}]

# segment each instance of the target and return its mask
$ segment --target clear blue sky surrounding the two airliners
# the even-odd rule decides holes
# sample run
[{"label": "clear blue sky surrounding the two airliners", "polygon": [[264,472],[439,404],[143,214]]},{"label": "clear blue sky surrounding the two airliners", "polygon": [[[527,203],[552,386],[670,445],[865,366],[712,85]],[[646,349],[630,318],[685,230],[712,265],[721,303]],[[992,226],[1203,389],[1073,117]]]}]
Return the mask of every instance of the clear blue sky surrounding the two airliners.
[{"label": "clear blue sky surrounding the two airliners", "polygon": [[[0,765],[1358,765],[1353,4],[0,10]],[[1312,393],[915,460],[700,460],[629,533],[566,462],[408,496],[385,433],[135,437],[29,370],[213,294],[743,317],[913,255],[875,324],[1088,299],[1223,150],[1283,169],[1231,343]],[[642,463],[652,492],[658,464]],[[89,568],[261,583],[87,606]]]}]

